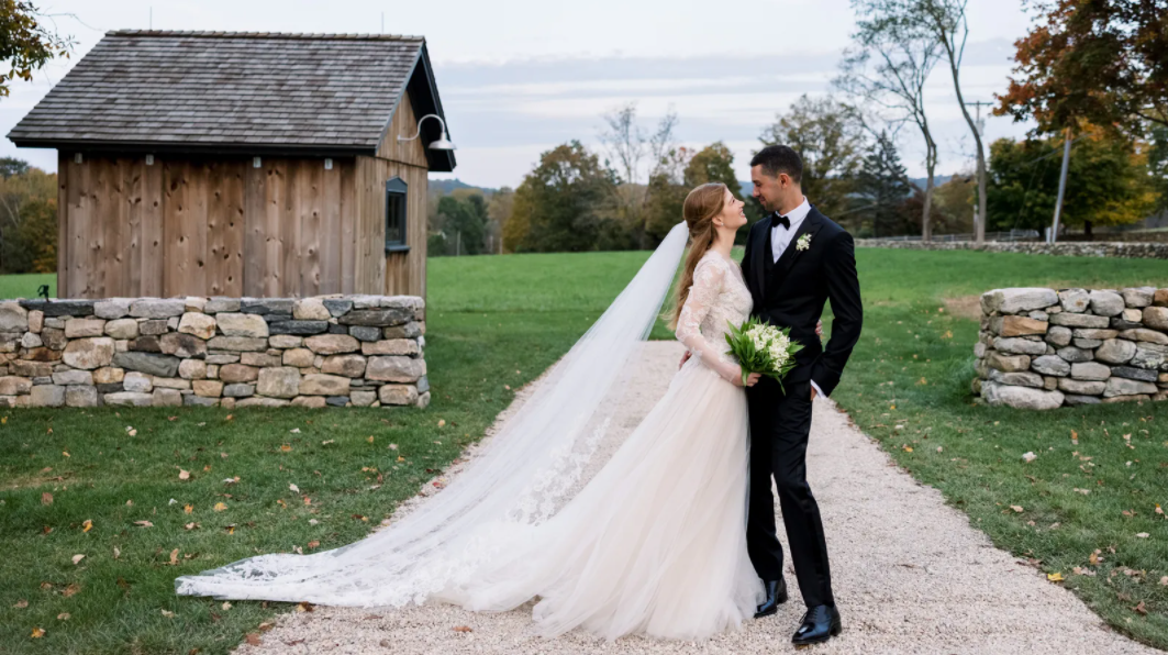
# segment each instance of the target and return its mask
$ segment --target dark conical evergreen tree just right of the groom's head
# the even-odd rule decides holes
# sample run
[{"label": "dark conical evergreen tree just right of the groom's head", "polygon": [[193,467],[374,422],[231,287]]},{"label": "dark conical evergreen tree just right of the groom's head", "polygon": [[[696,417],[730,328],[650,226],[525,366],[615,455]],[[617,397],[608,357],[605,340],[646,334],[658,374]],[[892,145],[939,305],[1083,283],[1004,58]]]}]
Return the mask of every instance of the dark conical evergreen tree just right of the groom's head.
[{"label": "dark conical evergreen tree just right of the groom's head", "polygon": [[864,205],[856,212],[870,224],[872,236],[898,236],[915,228],[905,205],[913,190],[896,144],[881,132],[860,166],[855,184]]}]

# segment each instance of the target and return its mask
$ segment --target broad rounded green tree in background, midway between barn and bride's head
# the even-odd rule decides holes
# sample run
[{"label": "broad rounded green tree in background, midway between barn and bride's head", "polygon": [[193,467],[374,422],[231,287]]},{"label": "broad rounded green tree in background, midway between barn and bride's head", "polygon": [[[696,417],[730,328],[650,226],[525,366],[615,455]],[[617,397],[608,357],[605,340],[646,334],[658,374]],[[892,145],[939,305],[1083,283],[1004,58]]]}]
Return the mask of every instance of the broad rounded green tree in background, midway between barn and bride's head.
[{"label": "broad rounded green tree in background, midway between barn and bride's head", "polygon": [[616,186],[616,174],[579,141],[543,153],[515,191],[505,248],[578,252],[619,246],[612,225]]}]

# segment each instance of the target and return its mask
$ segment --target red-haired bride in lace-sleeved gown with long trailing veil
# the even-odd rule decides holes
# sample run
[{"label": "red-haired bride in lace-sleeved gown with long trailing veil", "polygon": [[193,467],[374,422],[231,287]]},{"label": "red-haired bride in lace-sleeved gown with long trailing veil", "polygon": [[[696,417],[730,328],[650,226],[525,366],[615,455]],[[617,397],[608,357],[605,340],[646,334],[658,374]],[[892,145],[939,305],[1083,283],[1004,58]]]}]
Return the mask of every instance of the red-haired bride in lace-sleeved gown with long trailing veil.
[{"label": "red-haired bride in lace-sleeved gown with long trailing veil", "polygon": [[[719,183],[690,191],[683,216],[443,492],[354,544],[252,557],[181,577],[178,593],[366,607],[446,601],[472,611],[538,599],[533,616],[547,636],[580,627],[606,639],[693,640],[752,616],[763,585],[746,553],[746,397],[724,339],[752,305],[730,259],[746,217]],[[609,393],[658,318],[687,236],[670,322],[695,356],[580,485],[613,412]]]}]

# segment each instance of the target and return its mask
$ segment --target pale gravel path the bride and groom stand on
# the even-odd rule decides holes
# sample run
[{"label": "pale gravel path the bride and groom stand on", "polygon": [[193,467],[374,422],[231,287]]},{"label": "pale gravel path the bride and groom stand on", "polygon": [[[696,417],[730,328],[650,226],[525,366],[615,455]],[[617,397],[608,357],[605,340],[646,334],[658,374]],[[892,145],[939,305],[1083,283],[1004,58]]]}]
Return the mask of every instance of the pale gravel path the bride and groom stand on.
[{"label": "pale gravel path the bride and groom stand on", "polygon": [[[681,354],[675,342],[649,342],[634,391],[618,424],[630,430],[665,392]],[[522,400],[523,395],[520,397]],[[1156,654],[1111,632],[1071,592],[969,525],[939,492],[917,483],[830,402],[816,402],[808,450],[812,488],[823,513],[843,634],[816,653],[1096,655]],[[780,530],[781,534],[781,530]],[[781,536],[781,535],[780,535]],[[785,542],[785,538],[784,538]],[[785,548],[785,546],[784,546]],[[790,553],[790,551],[787,551]],[[772,653],[794,650],[802,615],[787,558],[792,599],[777,616],[705,642],[641,637],[614,643],[570,633],[542,640],[530,607],[473,614],[453,606],[405,609],[318,607],[286,614],[239,655],[431,653]],[[471,632],[456,630],[470,627]]]}]

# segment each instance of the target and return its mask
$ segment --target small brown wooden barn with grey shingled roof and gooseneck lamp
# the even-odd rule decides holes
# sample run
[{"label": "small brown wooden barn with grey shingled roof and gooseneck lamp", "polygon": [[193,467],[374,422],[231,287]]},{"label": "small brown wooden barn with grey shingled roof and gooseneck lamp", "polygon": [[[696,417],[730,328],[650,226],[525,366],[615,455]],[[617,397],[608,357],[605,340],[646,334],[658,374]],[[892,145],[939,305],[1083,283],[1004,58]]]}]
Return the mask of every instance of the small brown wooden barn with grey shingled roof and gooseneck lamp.
[{"label": "small brown wooden barn with grey shingled roof and gooseneck lamp", "polygon": [[422,37],[112,32],[8,138],[58,151],[60,298],[425,297],[444,130]]}]

